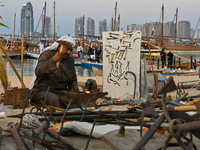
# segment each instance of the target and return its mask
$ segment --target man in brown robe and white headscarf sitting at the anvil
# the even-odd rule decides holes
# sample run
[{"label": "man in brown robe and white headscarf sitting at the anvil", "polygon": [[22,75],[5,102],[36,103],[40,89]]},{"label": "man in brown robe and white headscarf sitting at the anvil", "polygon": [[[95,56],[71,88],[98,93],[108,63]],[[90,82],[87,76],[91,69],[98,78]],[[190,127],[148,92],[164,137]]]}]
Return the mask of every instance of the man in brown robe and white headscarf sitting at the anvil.
[{"label": "man in brown robe and white headscarf sitting at the anvil", "polygon": [[[58,41],[64,41],[63,52]],[[47,105],[66,108],[70,99],[61,91],[78,91],[74,59],[71,57],[75,40],[63,36],[44,49],[35,68],[36,80],[31,90],[31,102],[40,105],[45,99]],[[60,62],[59,66],[56,64]],[[80,106],[73,101],[70,108]]]}]

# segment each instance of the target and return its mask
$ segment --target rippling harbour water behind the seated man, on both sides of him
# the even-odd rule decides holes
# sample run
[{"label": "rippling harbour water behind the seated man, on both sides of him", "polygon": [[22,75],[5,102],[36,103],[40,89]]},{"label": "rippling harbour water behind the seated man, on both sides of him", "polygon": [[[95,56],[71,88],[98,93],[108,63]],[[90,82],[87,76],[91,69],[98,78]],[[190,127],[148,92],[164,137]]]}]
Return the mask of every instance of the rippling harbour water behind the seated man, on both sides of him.
[{"label": "rippling harbour water behind the seated man, on both sides of him", "polygon": [[[12,69],[9,61],[7,60],[7,58],[3,58],[5,66],[6,66],[6,70],[7,70],[7,74],[8,76],[13,76],[16,75],[14,70]],[[19,73],[19,75],[21,75],[21,59],[20,58],[11,58],[17,72]],[[24,62],[23,62],[23,75],[24,76],[34,76],[34,69],[37,63],[37,59],[33,59],[33,58],[24,58]],[[91,76],[95,76],[94,72],[92,71],[92,68],[86,68],[83,66],[75,66],[76,68],[76,74],[77,76],[80,77],[91,77]]]}]

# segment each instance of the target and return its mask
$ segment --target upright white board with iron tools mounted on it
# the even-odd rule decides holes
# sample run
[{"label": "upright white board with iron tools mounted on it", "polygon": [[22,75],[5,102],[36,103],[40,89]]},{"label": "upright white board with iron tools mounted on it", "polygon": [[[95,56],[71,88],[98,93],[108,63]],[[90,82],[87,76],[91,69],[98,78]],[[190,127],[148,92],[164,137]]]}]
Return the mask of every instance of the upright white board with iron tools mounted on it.
[{"label": "upright white board with iron tools mounted on it", "polygon": [[140,96],[140,31],[103,32],[103,91],[111,98]]}]

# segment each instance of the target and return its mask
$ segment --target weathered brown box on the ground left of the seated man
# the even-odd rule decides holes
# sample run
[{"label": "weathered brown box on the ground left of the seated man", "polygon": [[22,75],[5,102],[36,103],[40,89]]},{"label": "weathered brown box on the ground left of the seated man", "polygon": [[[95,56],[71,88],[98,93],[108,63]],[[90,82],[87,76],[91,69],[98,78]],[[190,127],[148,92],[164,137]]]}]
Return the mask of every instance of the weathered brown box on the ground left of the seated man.
[{"label": "weathered brown box on the ground left of the seated man", "polygon": [[4,105],[12,105],[14,109],[24,108],[29,105],[29,89],[28,88],[14,88],[8,89],[4,94]]}]

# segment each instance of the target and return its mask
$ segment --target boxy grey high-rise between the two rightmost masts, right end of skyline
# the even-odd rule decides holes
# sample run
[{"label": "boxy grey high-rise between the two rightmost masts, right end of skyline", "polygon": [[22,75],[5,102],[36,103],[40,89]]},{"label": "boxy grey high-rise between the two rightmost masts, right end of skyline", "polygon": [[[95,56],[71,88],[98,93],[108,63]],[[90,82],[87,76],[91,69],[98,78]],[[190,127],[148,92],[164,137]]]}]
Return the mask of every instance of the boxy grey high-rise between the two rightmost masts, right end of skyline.
[{"label": "boxy grey high-rise between the two rightmost masts, right end of skyline", "polygon": [[190,22],[179,21],[178,22],[178,36],[180,38],[190,38]]}]

